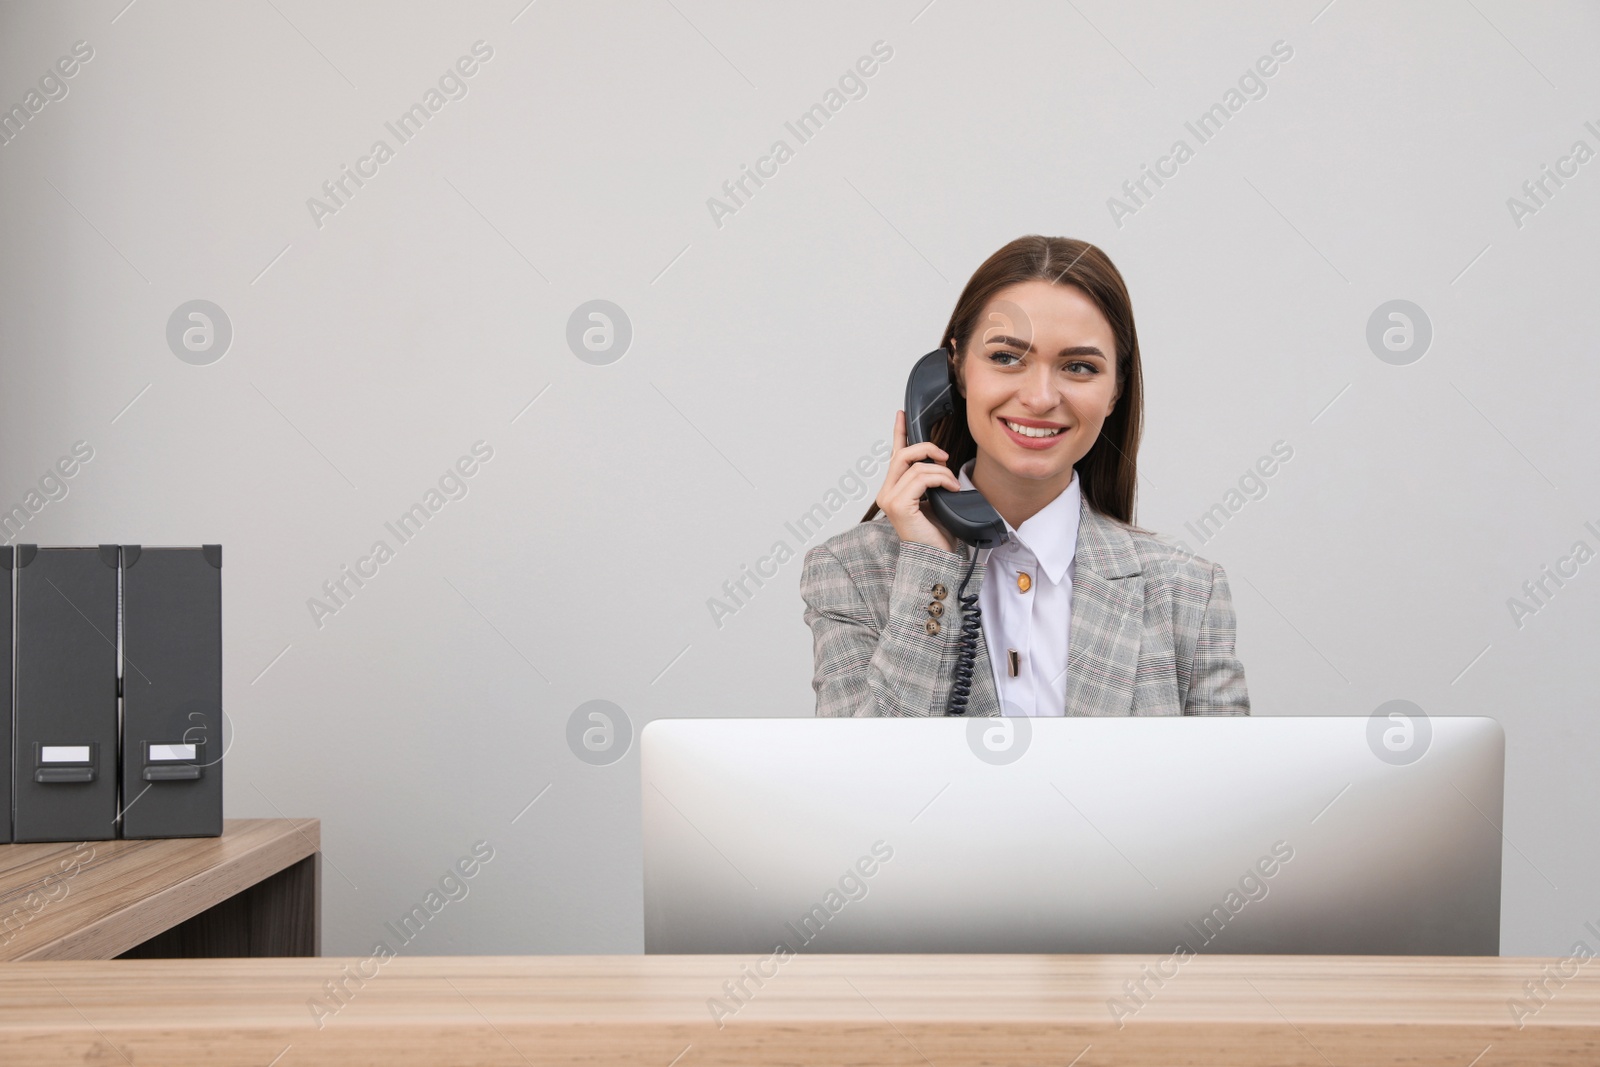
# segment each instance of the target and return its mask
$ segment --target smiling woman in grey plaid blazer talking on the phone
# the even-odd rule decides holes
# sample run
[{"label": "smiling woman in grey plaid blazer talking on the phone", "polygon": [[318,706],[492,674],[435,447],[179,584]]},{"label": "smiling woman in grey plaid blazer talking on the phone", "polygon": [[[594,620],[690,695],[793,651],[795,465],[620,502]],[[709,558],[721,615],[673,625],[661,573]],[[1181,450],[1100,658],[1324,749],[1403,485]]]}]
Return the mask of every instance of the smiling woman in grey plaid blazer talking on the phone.
[{"label": "smiling woman in grey plaid blazer talking on the phone", "polygon": [[[1248,715],[1222,568],[1133,525],[1144,381],[1106,253],[1019,237],[968,280],[941,344],[954,410],[926,442],[896,411],[877,501],[806,552],[816,713]],[[1006,539],[957,541],[930,490],[976,490]],[[971,637],[958,656],[971,608],[976,661]]]}]

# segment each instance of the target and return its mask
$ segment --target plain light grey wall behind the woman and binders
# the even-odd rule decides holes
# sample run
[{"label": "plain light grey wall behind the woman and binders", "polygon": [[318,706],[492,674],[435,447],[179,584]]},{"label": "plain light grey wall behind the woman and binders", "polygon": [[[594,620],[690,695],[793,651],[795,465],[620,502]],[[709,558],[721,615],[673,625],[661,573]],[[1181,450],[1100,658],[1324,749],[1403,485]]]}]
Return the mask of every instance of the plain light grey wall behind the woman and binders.
[{"label": "plain light grey wall behind the woman and binders", "polygon": [[[1139,520],[1229,569],[1256,712],[1499,718],[1502,950],[1600,918],[1600,563],[1509,606],[1600,549],[1600,162],[1507,203],[1600,149],[1592,5],[125,3],[0,8],[8,109],[93,48],[0,146],[0,506],[43,501],[13,541],[226,545],[227,813],[322,817],[326,952],[366,953],[478,840],[406,952],[640,949],[637,750],[582,763],[570,717],[810,713],[798,558],[709,600],[859,518],[912,358],[1027,232],[1128,278]],[[400,144],[384,123],[475,42]],[[800,144],[784,123],[875,42]],[[1275,42],[1200,144],[1184,123]],[[168,344],[195,299],[234,331],[206,365]],[[566,339],[594,299],[632,328],[610,365]],[[1394,299],[1432,326],[1403,365],[1366,339]],[[66,496],[29,498],[75,442]],[[477,442],[400,544],[384,523]],[[786,522],[842,480],[802,544]],[[314,619],[376,541],[394,558]]]}]

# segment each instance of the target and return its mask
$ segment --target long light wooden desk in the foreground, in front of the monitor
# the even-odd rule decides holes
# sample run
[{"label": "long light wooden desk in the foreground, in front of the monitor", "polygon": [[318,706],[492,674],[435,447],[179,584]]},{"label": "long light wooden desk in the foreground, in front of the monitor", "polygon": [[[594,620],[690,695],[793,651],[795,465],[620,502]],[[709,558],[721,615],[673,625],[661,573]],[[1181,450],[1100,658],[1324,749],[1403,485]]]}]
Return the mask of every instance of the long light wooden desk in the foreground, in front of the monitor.
[{"label": "long light wooden desk in the foreground, in front of the monitor", "polygon": [[[746,957],[395,957],[0,965],[0,1062],[1600,1064],[1600,961],[1518,1030],[1560,961],[1195,957],[1131,1017],[1160,957],[795,957],[718,1029]],[[1565,969],[1573,969],[1571,966]],[[354,977],[352,977],[354,976]],[[334,985],[328,985],[333,982]],[[338,1000],[331,989],[342,984]],[[320,1011],[317,1008],[320,1005]]]}]

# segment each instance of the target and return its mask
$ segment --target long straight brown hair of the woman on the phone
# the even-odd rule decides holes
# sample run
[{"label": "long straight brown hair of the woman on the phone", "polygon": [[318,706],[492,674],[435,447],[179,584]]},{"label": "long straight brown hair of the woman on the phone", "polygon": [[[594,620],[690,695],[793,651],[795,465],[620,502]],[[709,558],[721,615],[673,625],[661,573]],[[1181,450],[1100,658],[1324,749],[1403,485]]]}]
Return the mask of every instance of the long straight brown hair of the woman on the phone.
[{"label": "long straight brown hair of the woman on the phone", "polygon": [[[1016,238],[989,256],[968,278],[966,288],[955,301],[955,310],[950,312],[950,325],[944,328],[939,347],[955,341],[955,363],[950,373],[958,374],[960,362],[966,357],[966,342],[995,293],[1019,282],[1035,280],[1075,285],[1110,323],[1117,344],[1117,382],[1122,392],[1094,445],[1077,462],[1077,470],[1083,499],[1090,507],[1131,526],[1139,435],[1144,429],[1144,379],[1139,370],[1139,333],[1133,325],[1128,286],[1106,253],[1070,237],[1030,234]],[[966,398],[954,387],[954,378],[950,395],[955,402],[954,414],[934,424],[933,443],[949,453],[946,466],[958,474],[966,461],[978,454],[978,443],[966,424]],[[861,522],[869,522],[877,514],[878,506],[874,501]]]}]

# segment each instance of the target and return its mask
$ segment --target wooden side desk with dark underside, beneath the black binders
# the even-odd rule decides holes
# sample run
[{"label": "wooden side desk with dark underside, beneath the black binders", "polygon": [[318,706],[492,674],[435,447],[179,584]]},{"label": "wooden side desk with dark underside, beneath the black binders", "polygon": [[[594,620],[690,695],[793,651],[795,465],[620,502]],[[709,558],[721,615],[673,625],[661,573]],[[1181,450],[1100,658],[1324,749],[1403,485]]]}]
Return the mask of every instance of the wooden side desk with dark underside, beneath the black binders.
[{"label": "wooden side desk with dark underside, beneath the black binders", "polygon": [[320,849],[317,819],[0,845],[0,960],[317,955]]}]

